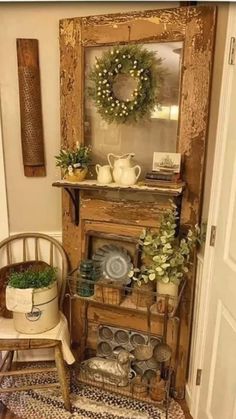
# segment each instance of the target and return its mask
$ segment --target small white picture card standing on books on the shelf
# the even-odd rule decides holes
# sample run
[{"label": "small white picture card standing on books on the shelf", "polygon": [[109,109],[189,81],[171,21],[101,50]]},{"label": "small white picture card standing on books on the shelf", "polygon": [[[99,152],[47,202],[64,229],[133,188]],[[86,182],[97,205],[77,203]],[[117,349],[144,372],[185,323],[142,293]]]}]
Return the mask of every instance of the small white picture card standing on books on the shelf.
[{"label": "small white picture card standing on books on the shelf", "polygon": [[181,153],[153,153],[153,171],[163,173],[180,173],[180,168]]}]

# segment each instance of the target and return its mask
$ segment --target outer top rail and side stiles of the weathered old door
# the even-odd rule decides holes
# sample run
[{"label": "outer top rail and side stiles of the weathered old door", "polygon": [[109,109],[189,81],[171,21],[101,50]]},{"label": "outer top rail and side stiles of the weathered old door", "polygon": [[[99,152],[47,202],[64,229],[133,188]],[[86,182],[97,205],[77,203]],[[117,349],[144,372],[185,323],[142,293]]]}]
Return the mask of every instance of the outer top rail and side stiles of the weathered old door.
[{"label": "outer top rail and side stiles of the weathered old door", "polygon": [[[216,8],[179,7],[60,21],[61,52],[61,135],[63,145],[83,142],[84,133],[84,59],[91,46],[183,41],[180,92],[178,152],[184,155],[187,188],[181,211],[181,224],[200,220],[204,158],[208,129],[212,55],[215,38]],[[63,245],[72,267],[80,251],[81,228],[70,216],[70,201],[63,193]],[[76,249],[76,252],[72,249]],[[191,331],[194,271],[189,278],[184,304],[178,370],[185,382]],[[184,342],[184,343],[183,343]],[[183,349],[185,348],[185,349]],[[177,389],[183,397],[184,386]]]}]

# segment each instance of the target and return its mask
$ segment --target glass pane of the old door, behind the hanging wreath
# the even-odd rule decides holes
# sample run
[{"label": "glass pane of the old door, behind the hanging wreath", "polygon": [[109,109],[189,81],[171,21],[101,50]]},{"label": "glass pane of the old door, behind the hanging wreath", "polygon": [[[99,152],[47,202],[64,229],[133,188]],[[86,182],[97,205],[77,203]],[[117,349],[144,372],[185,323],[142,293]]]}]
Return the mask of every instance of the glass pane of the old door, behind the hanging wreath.
[{"label": "glass pane of the old door, behind the hanging wreath", "polygon": [[[89,98],[89,74],[104,51],[109,46],[85,49],[85,141],[91,144],[94,160],[106,164],[106,155],[135,153],[136,161],[145,172],[151,170],[154,151],[175,152],[177,149],[178,115],[180,101],[180,80],[183,42],[165,42],[142,44],[154,51],[162,59],[164,80],[160,91],[160,100],[156,103],[151,118],[138,123],[111,124],[104,121]],[[113,85],[115,96],[120,100],[129,100],[136,85],[131,76],[119,74]]]}]

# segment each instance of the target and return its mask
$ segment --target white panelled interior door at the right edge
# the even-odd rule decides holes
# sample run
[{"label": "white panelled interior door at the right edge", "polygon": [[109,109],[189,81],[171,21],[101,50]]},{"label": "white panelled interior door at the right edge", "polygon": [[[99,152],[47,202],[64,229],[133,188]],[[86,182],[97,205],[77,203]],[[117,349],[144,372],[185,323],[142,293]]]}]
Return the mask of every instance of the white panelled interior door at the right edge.
[{"label": "white panelled interior door at the right edge", "polygon": [[[231,13],[234,37],[235,6]],[[218,167],[215,165],[213,176],[217,229],[205,307],[207,327],[198,419],[236,419],[236,65],[227,61],[221,97],[223,123],[216,149]]]}]

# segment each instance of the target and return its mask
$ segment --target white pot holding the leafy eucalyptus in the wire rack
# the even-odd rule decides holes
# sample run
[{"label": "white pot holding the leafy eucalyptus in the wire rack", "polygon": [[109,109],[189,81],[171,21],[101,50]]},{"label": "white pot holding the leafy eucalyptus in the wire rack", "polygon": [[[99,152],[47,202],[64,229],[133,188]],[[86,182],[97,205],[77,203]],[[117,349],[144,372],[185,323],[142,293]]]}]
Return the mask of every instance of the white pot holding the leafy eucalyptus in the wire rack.
[{"label": "white pot holding the leafy eucalyptus in the wire rack", "polygon": [[178,302],[179,286],[174,282],[157,281],[157,310],[159,313],[165,312],[165,295],[168,295],[168,313],[171,313]]}]

